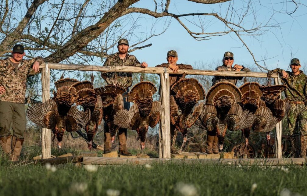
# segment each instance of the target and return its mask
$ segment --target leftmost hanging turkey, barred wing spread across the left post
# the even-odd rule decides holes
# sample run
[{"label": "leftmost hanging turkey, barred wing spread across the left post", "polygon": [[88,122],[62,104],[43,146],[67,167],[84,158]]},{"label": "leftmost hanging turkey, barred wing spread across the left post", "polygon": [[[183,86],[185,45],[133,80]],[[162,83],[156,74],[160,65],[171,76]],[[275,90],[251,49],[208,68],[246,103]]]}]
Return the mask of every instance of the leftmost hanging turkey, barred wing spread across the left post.
[{"label": "leftmost hanging turkey, barred wing spread across the left post", "polygon": [[[63,75],[62,75],[63,76]],[[29,120],[43,128],[51,129],[57,138],[58,148],[61,148],[64,131],[76,131],[84,128],[89,120],[90,111],[79,111],[72,106],[75,101],[76,90],[70,88],[78,82],[75,79],[61,79],[55,82],[54,97],[44,103],[34,104],[27,110]],[[53,139],[54,139],[53,137]]]}]

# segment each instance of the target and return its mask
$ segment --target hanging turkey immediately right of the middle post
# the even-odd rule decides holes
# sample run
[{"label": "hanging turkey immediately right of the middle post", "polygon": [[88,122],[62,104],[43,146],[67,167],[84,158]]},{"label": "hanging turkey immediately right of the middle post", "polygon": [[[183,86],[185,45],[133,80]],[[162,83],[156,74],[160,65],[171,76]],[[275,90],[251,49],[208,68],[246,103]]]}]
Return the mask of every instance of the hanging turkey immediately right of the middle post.
[{"label": "hanging turkey immediately right of the middle post", "polygon": [[[204,99],[205,92],[203,86],[196,79],[184,77],[185,75],[171,87],[171,94],[174,95],[170,96],[169,106],[171,124],[177,131],[182,133],[183,142],[185,143],[188,128],[198,119],[203,103],[196,106],[192,113],[193,107],[197,101]],[[177,137],[176,130],[171,135],[172,146]]]}]

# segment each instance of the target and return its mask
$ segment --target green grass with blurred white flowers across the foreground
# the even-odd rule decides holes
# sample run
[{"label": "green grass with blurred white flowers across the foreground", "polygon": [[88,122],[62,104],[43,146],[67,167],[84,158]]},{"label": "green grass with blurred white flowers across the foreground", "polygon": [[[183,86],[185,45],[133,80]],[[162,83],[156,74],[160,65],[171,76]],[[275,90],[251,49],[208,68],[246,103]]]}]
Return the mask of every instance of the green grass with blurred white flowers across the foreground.
[{"label": "green grass with blurred white flowers across the foreground", "polygon": [[[307,195],[302,166],[42,166],[0,158],[0,195]],[[296,193],[296,194],[295,194]]]}]

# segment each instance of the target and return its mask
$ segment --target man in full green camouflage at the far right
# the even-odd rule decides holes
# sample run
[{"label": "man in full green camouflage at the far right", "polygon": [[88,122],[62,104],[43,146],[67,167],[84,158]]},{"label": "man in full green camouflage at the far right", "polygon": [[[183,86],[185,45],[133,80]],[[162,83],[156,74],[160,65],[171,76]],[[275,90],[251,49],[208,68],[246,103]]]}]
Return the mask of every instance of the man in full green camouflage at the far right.
[{"label": "man in full green camouflage at the far right", "polygon": [[[306,158],[307,76],[303,73],[303,71],[299,70],[301,68],[301,63],[298,59],[292,59],[290,67],[292,71],[285,71],[277,68],[270,71],[270,73],[278,73],[282,77],[282,82],[287,85],[285,95],[286,98],[289,98],[291,101],[291,109],[288,113],[287,120],[290,131],[293,156],[301,156]],[[299,137],[299,135],[301,136]]]}]

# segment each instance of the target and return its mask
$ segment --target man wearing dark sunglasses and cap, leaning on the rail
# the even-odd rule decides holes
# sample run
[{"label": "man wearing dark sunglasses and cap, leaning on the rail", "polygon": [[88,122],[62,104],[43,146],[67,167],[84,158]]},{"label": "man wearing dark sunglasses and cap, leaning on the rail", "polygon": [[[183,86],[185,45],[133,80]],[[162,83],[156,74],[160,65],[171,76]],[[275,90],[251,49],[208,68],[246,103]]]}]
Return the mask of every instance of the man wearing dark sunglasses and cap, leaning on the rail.
[{"label": "man wearing dark sunglasses and cap, leaning on the rail", "polygon": [[[243,65],[235,64],[232,67],[234,62],[233,53],[232,52],[225,52],[223,57],[223,65],[216,67],[215,70],[217,71],[251,71],[248,68],[244,67]],[[242,80],[243,77],[234,77],[234,76],[214,76],[212,79],[212,86],[214,86],[218,82],[231,82],[234,85],[237,84],[238,80]],[[207,135],[207,154],[217,154],[219,153],[218,148],[218,138],[216,136],[215,131],[208,131]]]}]

